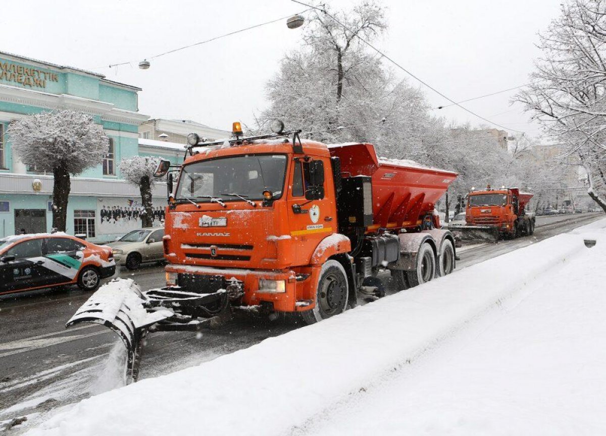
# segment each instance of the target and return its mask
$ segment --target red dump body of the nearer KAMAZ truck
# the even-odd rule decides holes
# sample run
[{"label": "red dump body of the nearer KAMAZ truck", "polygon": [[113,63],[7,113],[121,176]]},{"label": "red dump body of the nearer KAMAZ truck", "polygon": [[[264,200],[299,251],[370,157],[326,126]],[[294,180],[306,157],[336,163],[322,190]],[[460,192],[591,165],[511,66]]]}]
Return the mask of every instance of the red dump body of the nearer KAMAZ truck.
[{"label": "red dump body of the nearer KAMAZ truck", "polygon": [[370,176],[373,187],[373,225],[377,228],[414,228],[433,213],[436,201],[457,174],[421,167],[406,160],[378,159],[371,144],[330,145],[330,156],[341,159],[345,176]]}]

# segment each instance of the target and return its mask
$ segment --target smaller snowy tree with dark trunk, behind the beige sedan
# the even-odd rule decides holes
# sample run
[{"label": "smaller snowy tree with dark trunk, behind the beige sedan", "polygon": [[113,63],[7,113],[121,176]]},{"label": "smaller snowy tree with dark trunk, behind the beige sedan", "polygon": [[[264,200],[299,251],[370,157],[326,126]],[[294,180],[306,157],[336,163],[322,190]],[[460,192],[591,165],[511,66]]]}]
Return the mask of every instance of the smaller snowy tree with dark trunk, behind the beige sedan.
[{"label": "smaller snowy tree with dark trunk, behind the beige sedan", "polygon": [[143,227],[153,226],[151,188],[156,181],[153,173],[159,161],[159,157],[133,156],[122,159],[119,165],[122,177],[139,187],[141,205],[145,212],[141,214],[141,225]]}]

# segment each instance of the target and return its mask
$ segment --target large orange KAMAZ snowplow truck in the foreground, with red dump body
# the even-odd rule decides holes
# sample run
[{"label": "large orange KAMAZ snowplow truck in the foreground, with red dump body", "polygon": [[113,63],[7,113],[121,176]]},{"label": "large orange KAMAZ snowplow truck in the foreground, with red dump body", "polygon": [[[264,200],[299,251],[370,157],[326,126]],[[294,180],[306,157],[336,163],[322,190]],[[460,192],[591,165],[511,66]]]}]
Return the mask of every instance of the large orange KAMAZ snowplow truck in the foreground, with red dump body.
[{"label": "large orange KAMAZ snowplow truck in the foreground, with red dump body", "polygon": [[[135,362],[145,329],[199,329],[243,307],[298,312],[314,323],[355,306],[359,295],[381,297],[380,270],[400,289],[453,271],[454,237],[434,209],[456,173],[378,159],[371,144],[300,139],[281,122],[272,131],[243,137],[235,123],[232,139],[211,143],[190,134],[176,177],[170,162],[159,164],[169,192],[166,286],[125,285],[155,310],[132,322],[133,332],[118,331],[111,313],[102,322]],[[89,307],[98,311],[93,297]],[[158,308],[171,314],[158,321]],[[132,321],[132,308],[121,312]],[[95,316],[83,306],[68,325]]]}]

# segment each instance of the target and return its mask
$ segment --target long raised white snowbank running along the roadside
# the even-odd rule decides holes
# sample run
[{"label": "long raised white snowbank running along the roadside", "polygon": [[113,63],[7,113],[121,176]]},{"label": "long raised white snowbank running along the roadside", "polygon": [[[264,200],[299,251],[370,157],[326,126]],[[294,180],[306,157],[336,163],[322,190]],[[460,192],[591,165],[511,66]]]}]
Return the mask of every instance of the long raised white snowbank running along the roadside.
[{"label": "long raised white snowbank running along the roadside", "polygon": [[[594,237],[606,245],[606,234]],[[28,434],[273,435],[304,428],[557,271],[587,250],[583,238],[562,234],[195,368],[88,398]]]}]

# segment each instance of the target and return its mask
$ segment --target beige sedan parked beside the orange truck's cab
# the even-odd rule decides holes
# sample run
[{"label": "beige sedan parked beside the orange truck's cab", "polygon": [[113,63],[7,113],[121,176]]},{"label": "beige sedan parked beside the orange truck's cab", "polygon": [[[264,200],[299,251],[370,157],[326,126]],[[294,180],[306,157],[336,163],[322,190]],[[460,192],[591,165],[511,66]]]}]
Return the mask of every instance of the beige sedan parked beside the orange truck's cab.
[{"label": "beige sedan parked beside the orange truck's cab", "polygon": [[163,236],[164,227],[142,228],[107,245],[112,247],[116,263],[137,269],[142,263],[164,260]]}]

